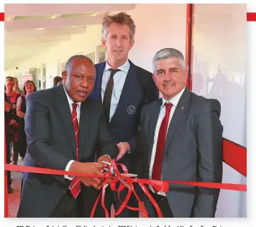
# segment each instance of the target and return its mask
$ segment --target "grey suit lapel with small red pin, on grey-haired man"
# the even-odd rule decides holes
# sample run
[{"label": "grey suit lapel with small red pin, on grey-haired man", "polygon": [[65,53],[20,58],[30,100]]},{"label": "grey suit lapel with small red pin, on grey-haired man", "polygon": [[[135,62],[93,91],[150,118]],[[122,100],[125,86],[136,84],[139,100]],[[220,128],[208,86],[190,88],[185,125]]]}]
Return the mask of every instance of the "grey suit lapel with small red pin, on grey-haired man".
[{"label": "grey suit lapel with small red pin, on grey-haired man", "polygon": [[185,91],[183,92],[182,96],[180,97],[180,101],[178,102],[178,105],[175,108],[173,118],[170,121],[170,125],[168,128],[168,134],[167,134],[166,140],[165,140],[165,154],[168,150],[168,147],[170,146],[170,142],[172,142],[175,131],[178,128],[178,125],[180,124],[180,120],[182,119],[183,115],[186,112],[186,109],[188,108],[188,106],[190,104],[190,97],[191,97],[191,92],[188,91],[187,88],[185,88]]}]

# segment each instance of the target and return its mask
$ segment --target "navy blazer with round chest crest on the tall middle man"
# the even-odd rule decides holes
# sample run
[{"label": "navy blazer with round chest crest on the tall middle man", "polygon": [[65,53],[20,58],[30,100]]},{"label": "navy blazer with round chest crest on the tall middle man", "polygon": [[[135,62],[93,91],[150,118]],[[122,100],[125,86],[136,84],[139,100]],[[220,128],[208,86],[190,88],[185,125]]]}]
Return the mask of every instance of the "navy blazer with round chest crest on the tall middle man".
[{"label": "navy blazer with round chest crest on the tall middle man", "polygon": [[[156,101],[159,97],[159,92],[152,80],[152,73],[134,65],[131,61],[129,63],[130,68],[119,103],[109,124],[109,131],[116,143],[128,142],[132,154],[136,146],[135,138],[140,126],[142,106]],[[96,82],[91,93],[91,98],[101,102],[101,82],[105,65],[106,62],[96,65]],[[132,110],[134,110],[134,113]],[[125,154],[120,161],[127,165],[128,168],[131,154]]]}]

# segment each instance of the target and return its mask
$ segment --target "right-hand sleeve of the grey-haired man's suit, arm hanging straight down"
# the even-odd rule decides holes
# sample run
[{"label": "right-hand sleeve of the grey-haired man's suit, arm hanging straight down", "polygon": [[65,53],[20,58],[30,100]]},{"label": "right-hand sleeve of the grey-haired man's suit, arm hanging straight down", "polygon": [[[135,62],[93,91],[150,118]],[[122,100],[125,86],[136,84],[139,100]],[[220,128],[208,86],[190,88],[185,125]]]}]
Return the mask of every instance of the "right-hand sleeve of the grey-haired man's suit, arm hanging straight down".
[{"label": "right-hand sleeve of the grey-haired man's suit, arm hanging straight down", "polygon": [[[222,132],[219,116],[221,106],[217,100],[208,100],[198,118],[196,137],[198,143],[198,181],[222,180]],[[215,216],[219,189],[198,187],[193,217]]]}]

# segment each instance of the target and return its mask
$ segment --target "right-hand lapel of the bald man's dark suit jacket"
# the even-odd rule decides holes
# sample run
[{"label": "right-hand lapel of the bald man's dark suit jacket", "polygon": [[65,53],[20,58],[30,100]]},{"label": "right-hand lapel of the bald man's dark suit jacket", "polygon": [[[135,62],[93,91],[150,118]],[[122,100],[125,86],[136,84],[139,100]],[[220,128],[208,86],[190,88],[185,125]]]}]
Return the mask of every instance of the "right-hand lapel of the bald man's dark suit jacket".
[{"label": "right-hand lapel of the bald man's dark suit jacket", "polygon": [[89,124],[91,123],[91,115],[93,110],[91,108],[91,100],[86,99],[84,103],[81,104],[80,121],[79,121],[79,157],[83,157],[83,145],[86,141],[86,134],[89,129]]}]

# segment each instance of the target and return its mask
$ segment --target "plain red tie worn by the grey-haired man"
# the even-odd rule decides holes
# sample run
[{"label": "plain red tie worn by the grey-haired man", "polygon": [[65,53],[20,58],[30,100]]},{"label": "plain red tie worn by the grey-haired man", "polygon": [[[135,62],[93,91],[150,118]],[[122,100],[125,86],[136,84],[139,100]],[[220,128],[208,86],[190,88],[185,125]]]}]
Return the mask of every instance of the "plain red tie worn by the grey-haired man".
[{"label": "plain red tie worn by the grey-haired man", "polygon": [[[152,180],[162,180],[162,162],[163,162],[163,154],[165,150],[165,137],[168,129],[168,122],[170,119],[170,108],[172,108],[172,103],[165,103],[165,117],[160,126],[160,130],[157,138],[157,149],[155,152],[155,160],[152,170]],[[158,193],[155,190],[155,193]]]}]

